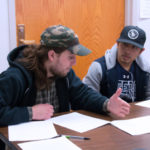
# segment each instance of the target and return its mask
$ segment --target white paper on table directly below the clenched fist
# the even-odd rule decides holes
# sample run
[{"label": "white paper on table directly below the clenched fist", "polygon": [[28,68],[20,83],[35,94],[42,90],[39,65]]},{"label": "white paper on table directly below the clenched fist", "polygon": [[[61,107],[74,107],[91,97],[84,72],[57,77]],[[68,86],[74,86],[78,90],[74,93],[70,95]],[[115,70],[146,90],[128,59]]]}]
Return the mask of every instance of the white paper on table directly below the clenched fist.
[{"label": "white paper on table directly below the clenched fist", "polygon": [[46,121],[31,121],[8,126],[9,141],[27,141],[47,139],[57,135],[53,123]]}]

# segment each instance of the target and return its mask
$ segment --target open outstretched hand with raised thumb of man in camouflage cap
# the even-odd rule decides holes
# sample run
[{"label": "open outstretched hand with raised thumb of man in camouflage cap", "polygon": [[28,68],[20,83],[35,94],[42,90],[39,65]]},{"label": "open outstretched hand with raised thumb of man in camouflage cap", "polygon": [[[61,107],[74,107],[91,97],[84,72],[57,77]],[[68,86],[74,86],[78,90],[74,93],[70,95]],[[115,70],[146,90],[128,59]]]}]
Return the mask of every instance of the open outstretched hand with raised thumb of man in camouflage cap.
[{"label": "open outstretched hand with raised thumb of man in camouflage cap", "polygon": [[130,105],[119,97],[121,92],[119,88],[107,103],[107,110],[114,118],[124,118],[130,112]]}]

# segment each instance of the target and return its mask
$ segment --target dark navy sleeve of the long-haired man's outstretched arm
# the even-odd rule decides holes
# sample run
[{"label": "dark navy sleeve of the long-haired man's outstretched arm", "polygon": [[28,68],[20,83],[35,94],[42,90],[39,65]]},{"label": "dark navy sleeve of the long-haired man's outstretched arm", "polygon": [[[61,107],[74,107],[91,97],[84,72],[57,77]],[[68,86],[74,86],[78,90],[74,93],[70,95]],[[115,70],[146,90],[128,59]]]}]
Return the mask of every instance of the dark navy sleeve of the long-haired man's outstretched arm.
[{"label": "dark navy sleeve of the long-haired man's outstretched arm", "polygon": [[72,109],[84,109],[97,113],[103,111],[103,103],[106,99],[100,93],[89,88],[71,70],[68,74],[69,79],[69,98]]}]

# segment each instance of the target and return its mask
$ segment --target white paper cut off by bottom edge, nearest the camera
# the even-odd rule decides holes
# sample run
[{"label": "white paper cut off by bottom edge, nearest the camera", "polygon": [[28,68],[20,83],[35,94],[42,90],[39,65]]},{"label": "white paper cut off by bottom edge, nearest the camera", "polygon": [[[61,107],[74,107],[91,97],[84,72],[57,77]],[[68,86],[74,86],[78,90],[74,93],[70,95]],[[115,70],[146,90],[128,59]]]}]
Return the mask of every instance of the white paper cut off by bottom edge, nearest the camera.
[{"label": "white paper cut off by bottom edge, nearest the camera", "polygon": [[18,144],[22,150],[81,150],[65,137]]}]

